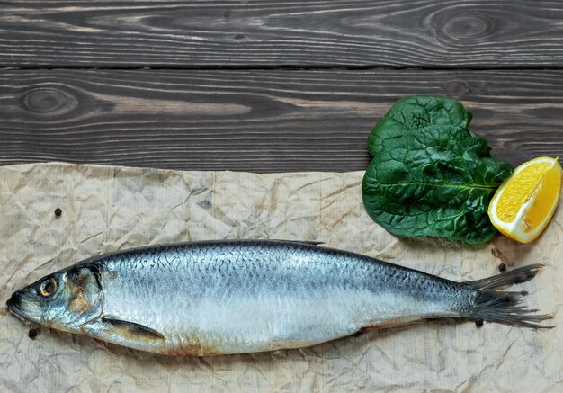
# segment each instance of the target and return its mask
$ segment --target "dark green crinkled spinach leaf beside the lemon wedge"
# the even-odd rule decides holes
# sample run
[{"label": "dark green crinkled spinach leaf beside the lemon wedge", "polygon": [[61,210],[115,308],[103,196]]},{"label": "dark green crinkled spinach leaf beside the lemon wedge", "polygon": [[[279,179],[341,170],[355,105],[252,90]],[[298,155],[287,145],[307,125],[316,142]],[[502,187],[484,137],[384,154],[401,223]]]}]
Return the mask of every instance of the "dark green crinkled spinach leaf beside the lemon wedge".
[{"label": "dark green crinkled spinach leaf beside the lemon wedge", "polygon": [[471,113],[445,97],[395,103],[371,130],[363,177],[366,210],[402,237],[450,237],[469,244],[496,232],[487,207],[512,166],[490,156],[468,130]]}]

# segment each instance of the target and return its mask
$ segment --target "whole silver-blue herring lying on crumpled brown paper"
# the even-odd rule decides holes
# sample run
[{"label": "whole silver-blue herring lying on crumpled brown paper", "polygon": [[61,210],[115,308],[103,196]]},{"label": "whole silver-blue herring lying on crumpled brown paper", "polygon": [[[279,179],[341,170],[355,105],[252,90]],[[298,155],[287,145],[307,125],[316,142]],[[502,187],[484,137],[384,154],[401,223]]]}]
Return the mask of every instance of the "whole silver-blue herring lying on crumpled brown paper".
[{"label": "whole silver-blue herring lying on crumpled brown paper", "polygon": [[316,242],[200,241],[94,256],[6,305],[24,321],[140,351],[258,353],[430,318],[552,327],[523,306],[527,292],[500,290],[542,266],[459,282]]}]

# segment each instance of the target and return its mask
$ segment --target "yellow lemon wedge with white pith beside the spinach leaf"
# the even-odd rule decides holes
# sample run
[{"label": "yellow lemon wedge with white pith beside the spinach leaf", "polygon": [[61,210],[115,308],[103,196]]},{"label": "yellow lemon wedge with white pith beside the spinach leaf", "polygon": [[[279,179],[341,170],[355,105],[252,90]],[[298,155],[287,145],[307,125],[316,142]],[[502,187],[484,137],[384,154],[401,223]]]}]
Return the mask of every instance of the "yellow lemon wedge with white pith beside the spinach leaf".
[{"label": "yellow lemon wedge with white pith beside the spinach leaf", "polygon": [[506,237],[521,243],[540,236],[559,203],[561,165],[538,157],[514,169],[488,205],[488,217]]}]

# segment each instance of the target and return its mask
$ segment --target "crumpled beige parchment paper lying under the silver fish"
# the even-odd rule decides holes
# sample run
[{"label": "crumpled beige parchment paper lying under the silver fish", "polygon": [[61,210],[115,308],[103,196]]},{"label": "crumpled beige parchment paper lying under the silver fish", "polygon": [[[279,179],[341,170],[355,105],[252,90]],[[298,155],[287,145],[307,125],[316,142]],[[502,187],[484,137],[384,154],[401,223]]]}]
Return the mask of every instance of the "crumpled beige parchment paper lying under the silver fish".
[{"label": "crumpled beige parchment paper lying under the silver fish", "polygon": [[[2,391],[555,391],[563,379],[563,210],[520,245],[401,239],[363,209],[362,173],[175,172],[59,163],[0,168]],[[56,217],[54,210],[62,211]],[[219,238],[316,240],[453,280],[545,263],[528,305],[556,328],[437,320],[300,350],[174,358],[29,325],[13,290],[91,255]]]}]

